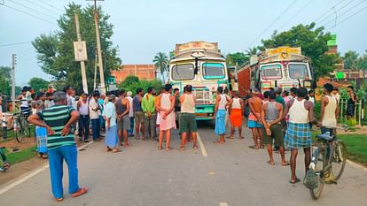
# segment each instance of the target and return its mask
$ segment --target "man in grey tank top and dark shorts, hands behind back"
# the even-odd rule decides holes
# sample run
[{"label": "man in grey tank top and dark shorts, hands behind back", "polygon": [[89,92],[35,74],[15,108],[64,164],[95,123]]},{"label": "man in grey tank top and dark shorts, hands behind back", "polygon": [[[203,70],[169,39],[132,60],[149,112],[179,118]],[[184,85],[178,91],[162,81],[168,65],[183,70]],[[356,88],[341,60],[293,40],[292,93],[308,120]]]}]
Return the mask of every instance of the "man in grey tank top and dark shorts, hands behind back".
[{"label": "man in grey tank top and dark shorts, hands behind back", "polygon": [[275,165],[273,158],[272,144],[278,147],[282,159],[282,165],[289,165],[285,162],[285,146],[283,140],[283,128],[281,120],[283,119],[283,106],[275,101],[276,94],[269,92],[269,102],[262,105],[262,135],[264,143],[267,145],[270,165]]}]

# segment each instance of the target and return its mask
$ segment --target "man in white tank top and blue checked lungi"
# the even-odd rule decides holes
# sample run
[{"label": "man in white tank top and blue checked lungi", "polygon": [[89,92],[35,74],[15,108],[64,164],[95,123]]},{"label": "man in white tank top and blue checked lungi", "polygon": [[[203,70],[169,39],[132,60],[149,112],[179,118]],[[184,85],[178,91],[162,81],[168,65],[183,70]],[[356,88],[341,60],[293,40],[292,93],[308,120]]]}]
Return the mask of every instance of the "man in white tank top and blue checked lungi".
[{"label": "man in white tank top and blue checked lungi", "polygon": [[306,100],[308,95],[306,88],[297,89],[297,98],[290,100],[285,107],[285,117],[289,115],[288,126],[285,132],[285,147],[291,151],[291,173],[289,181],[295,184],[300,181],[296,176],[296,159],[298,149],[305,153],[305,169],[311,162],[311,129],[309,122],[314,121],[314,104]]}]

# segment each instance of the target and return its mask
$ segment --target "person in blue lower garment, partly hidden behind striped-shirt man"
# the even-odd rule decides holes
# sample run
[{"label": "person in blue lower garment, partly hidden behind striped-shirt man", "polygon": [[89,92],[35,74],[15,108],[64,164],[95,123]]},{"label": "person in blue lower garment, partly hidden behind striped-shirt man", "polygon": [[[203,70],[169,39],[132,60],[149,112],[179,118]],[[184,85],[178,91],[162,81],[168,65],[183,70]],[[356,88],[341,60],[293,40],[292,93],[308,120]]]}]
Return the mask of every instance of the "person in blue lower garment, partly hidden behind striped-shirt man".
[{"label": "person in blue lower garment, partly hidden behind striped-shirt man", "polygon": [[[42,100],[37,100],[32,103],[34,113],[42,111],[44,104]],[[47,159],[47,129],[41,126],[35,126],[35,140],[37,141],[38,157]]]}]

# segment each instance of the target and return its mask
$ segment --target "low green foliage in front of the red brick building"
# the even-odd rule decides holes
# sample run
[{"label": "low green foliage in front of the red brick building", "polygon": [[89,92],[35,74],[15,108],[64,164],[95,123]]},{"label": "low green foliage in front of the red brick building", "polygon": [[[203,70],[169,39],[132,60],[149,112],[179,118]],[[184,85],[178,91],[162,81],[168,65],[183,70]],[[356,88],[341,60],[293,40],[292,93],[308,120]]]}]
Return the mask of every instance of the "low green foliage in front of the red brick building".
[{"label": "low green foliage in front of the red brick building", "polygon": [[119,89],[123,88],[126,91],[131,91],[133,95],[136,95],[137,88],[143,88],[146,92],[147,88],[153,87],[157,92],[162,87],[160,80],[139,80],[136,76],[128,76],[120,85],[117,86]]}]

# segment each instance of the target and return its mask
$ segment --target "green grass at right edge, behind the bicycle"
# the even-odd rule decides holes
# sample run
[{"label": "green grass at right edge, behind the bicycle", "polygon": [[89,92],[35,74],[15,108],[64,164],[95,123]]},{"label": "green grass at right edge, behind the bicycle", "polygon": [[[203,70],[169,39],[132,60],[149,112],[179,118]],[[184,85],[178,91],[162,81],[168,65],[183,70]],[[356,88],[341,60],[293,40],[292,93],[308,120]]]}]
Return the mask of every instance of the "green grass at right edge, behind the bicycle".
[{"label": "green grass at right edge, behind the bicycle", "polygon": [[[312,141],[316,142],[316,134],[312,133]],[[367,164],[367,135],[365,134],[339,134],[338,139],[343,141],[347,147],[348,159],[357,163]]]}]

